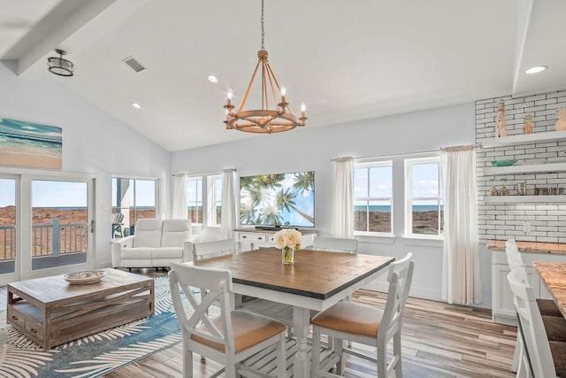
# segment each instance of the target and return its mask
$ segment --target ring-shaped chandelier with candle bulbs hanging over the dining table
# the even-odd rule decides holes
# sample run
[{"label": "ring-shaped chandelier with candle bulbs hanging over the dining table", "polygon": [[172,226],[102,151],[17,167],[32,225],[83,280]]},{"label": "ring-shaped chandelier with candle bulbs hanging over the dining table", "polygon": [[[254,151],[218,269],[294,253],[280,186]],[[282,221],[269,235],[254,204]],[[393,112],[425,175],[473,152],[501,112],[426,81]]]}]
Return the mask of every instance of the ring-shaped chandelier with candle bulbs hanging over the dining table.
[{"label": "ring-shaped chandelier with candle bulbs hanging over the dining table", "polygon": [[[248,88],[241,98],[240,106],[233,112],[235,106],[232,104],[232,89],[228,91],[228,98],[224,108],[226,109],[227,129],[235,129],[248,133],[272,134],[294,129],[297,126],[304,126],[305,105],[301,106],[301,117],[296,117],[291,112],[287,103],[286,90],[279,86],[279,81],[275,78],[272,67],[267,61],[267,51],[264,49],[264,0],[262,0],[262,50],[257,51],[257,64],[254,73],[249,80]],[[249,91],[256,79],[256,73],[261,67],[261,108],[256,110],[244,110],[248,100]],[[279,94],[279,96],[278,96]],[[270,95],[272,96],[273,108],[270,109]],[[280,99],[280,101],[278,101]]]}]

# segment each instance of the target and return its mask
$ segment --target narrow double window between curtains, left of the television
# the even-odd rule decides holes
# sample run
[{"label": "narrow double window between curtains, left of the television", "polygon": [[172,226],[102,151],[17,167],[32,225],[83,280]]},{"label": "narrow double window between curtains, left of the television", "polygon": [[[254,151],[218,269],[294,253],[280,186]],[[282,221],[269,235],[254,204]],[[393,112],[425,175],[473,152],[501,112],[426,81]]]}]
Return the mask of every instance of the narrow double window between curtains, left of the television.
[{"label": "narrow double window between curtains, left of the television", "polygon": [[220,227],[222,175],[187,177],[187,212],[193,224]]}]

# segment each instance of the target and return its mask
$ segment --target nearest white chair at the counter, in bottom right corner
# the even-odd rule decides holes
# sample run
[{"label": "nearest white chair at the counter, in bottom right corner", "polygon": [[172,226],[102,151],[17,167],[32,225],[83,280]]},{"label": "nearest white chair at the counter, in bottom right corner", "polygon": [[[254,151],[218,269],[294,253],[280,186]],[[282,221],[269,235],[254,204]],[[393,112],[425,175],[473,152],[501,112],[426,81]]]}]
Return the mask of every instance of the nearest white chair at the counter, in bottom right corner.
[{"label": "nearest white chair at the counter, in bottom right corner", "polygon": [[508,281],[515,296],[516,312],[523,328],[524,348],[528,351],[519,361],[516,376],[566,377],[566,343],[548,340],[547,329],[524,266],[509,272]]}]

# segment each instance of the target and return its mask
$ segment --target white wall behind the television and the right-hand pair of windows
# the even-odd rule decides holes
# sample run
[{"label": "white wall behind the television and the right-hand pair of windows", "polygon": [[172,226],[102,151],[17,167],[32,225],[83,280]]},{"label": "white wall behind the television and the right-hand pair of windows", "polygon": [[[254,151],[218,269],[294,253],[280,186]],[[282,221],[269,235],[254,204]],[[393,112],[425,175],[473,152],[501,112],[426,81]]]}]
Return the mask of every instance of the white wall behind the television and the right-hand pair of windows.
[{"label": "white wall behind the television and the right-hand pair of windows", "polygon": [[[237,143],[223,143],[172,153],[172,173],[207,173],[236,168],[239,176],[315,171],[315,217],[319,235],[330,235],[332,163],[331,158],[379,157],[439,150],[441,147],[475,143],[474,104],[455,105],[423,112],[411,112],[373,120],[361,120],[331,127],[308,126],[280,135],[256,135]],[[218,121],[220,122],[220,121]],[[211,132],[225,133],[221,127]],[[395,181],[402,180],[397,177]],[[401,189],[397,186],[398,189]],[[402,198],[402,191],[394,194]],[[395,227],[400,229],[400,220]],[[412,251],[416,261],[411,295],[440,299],[441,243],[419,243],[396,235],[394,243],[367,243],[358,251],[402,257]],[[373,242],[373,241],[372,241]],[[489,255],[483,253],[484,303],[491,306]],[[375,285],[376,289],[383,285]]]}]

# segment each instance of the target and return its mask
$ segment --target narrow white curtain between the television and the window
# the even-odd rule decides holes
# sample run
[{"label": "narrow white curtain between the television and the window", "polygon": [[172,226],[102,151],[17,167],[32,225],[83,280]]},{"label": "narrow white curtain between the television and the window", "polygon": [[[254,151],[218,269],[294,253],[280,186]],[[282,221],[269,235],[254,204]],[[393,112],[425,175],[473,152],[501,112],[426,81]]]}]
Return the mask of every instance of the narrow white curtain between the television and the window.
[{"label": "narrow white curtain between the television and the window", "polygon": [[333,160],[333,237],[354,237],[354,159]]}]

